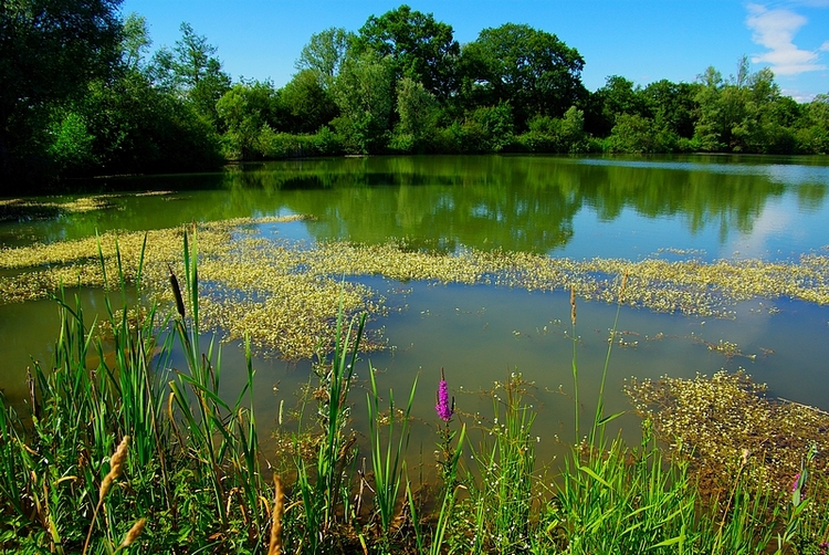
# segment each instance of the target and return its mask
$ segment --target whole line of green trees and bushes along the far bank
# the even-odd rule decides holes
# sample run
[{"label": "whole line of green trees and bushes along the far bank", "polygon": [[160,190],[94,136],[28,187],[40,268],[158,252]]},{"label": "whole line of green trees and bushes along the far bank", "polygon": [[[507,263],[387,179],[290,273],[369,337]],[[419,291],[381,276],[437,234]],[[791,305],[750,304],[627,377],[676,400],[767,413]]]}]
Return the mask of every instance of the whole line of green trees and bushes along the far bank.
[{"label": "whole line of green trees and bushes along the far bank", "polygon": [[227,160],[422,153],[829,151],[829,95],[800,104],[746,57],[734,75],[581,83],[585,60],[526,24],[452,27],[408,6],[313,34],[283,87],[233,80],[191,25],[150,54],[120,0],[0,4],[0,193]]}]

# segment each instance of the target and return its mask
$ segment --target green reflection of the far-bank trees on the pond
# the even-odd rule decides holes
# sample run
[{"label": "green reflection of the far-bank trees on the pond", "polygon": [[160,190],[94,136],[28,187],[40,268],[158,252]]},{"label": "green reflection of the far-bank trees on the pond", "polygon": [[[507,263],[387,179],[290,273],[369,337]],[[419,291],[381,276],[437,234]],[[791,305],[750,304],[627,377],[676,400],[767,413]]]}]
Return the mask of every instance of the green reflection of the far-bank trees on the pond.
[{"label": "green reflection of the far-bank trees on the pond", "polygon": [[262,190],[292,211],[317,216],[308,223],[317,240],[417,238],[423,248],[438,250],[528,252],[566,245],[583,206],[606,221],[630,209],[680,219],[692,233],[716,226],[725,241],[733,230],[751,232],[767,199],[793,186],[812,207],[826,195],[823,184],[781,182],[762,168],[726,171],[720,164],[676,165],[674,159],[665,165],[584,161],[524,156],[291,160],[234,171],[225,182],[231,196]]}]

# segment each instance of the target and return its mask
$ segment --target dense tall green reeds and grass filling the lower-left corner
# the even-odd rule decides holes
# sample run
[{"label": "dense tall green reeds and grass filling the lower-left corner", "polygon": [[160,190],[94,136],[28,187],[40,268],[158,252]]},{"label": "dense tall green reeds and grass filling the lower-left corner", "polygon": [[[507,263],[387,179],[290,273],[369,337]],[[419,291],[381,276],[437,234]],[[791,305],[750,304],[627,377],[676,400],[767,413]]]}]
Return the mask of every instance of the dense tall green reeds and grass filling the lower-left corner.
[{"label": "dense tall green reeds and grass filling the lower-left corner", "polygon": [[[258,551],[270,526],[270,495],[252,397],[244,401],[253,380],[250,350],[246,386],[229,405],[219,396],[221,349],[199,347],[195,247],[185,240],[189,317],[183,303],[176,318],[159,316],[156,305],[129,306],[116,253],[116,276],[106,275],[101,260],[105,281],[117,283],[120,307],[107,297],[105,321],[87,324],[80,295],[61,291],[54,357],[49,366],[33,364],[25,410],[0,397],[0,546]],[[141,252],[139,297],[143,260]],[[176,338],[182,368],[174,364]],[[128,448],[116,451],[126,437]]]}]

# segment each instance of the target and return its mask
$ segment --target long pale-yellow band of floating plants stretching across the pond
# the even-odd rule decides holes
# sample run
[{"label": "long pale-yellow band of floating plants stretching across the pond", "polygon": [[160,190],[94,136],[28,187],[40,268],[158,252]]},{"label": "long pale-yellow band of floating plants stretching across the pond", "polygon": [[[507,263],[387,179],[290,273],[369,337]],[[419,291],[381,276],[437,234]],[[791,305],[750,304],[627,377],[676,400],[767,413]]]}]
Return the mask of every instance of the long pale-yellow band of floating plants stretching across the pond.
[{"label": "long pale-yellow band of floating plants stretching across the pond", "polygon": [[[756,297],[790,297],[829,303],[829,256],[808,253],[791,262],[696,258],[664,260],[657,253],[640,261],[578,261],[538,254],[461,249],[457,252],[412,249],[406,240],[381,244],[345,241],[306,244],[274,237],[280,223],[302,216],[231,219],[196,224],[199,240],[202,314],[229,338],[251,334],[261,348],[283,356],[311,356],[326,344],[327,324],[342,301],[345,312],[382,315],[386,300],[359,276],[399,282],[485,284],[528,291],[573,289],[581,299],[616,303],[618,275],[627,275],[621,302],[658,312],[734,317],[734,306]],[[180,272],[179,245],[185,227],[146,232],[144,291],[172,302],[169,269]],[[0,269],[19,271],[0,278],[3,303],[41,299],[63,286],[104,286],[133,269],[144,232],[107,232],[99,238],[0,249]],[[117,245],[117,249],[116,249]],[[116,250],[120,252],[120,270]],[[671,253],[683,255],[683,253]],[[694,253],[689,255],[693,256]],[[101,260],[106,272],[101,271]],[[340,287],[345,278],[349,280]],[[112,281],[112,280],[111,280]],[[377,342],[374,342],[375,345]]]}]

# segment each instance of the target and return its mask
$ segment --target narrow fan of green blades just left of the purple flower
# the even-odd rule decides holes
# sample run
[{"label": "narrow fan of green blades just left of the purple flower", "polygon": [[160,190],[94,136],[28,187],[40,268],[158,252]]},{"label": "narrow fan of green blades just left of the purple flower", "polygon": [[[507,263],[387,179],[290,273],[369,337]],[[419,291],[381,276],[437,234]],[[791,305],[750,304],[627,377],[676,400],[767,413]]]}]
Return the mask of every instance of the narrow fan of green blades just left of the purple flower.
[{"label": "narrow fan of green blades just left of the purple flower", "polygon": [[[366,406],[368,407],[368,439],[371,448],[371,470],[374,471],[374,507],[380,520],[380,528],[384,541],[388,543],[391,532],[391,523],[397,512],[397,504],[402,479],[403,461],[409,447],[411,406],[414,401],[414,391],[418,379],[411,385],[408,401],[398,416],[395,407],[395,394],[389,389],[389,408],[384,413],[380,410],[380,392],[377,389],[376,370],[369,364],[368,375],[370,378],[370,390],[366,394]],[[400,419],[400,430],[395,437],[395,421]],[[385,420],[385,426],[382,421]],[[384,431],[385,443],[384,449]]]}]

